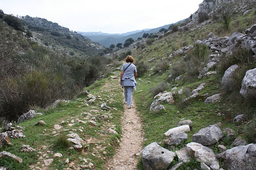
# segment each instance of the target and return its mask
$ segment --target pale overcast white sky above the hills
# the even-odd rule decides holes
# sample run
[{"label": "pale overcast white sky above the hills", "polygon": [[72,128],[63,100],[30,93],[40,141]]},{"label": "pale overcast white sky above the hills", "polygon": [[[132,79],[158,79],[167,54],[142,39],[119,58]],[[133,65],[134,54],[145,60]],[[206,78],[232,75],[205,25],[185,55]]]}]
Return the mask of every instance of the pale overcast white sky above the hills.
[{"label": "pale overcast white sky above the hills", "polygon": [[45,18],[80,32],[126,33],[188,18],[203,0],[0,0],[5,14]]}]

